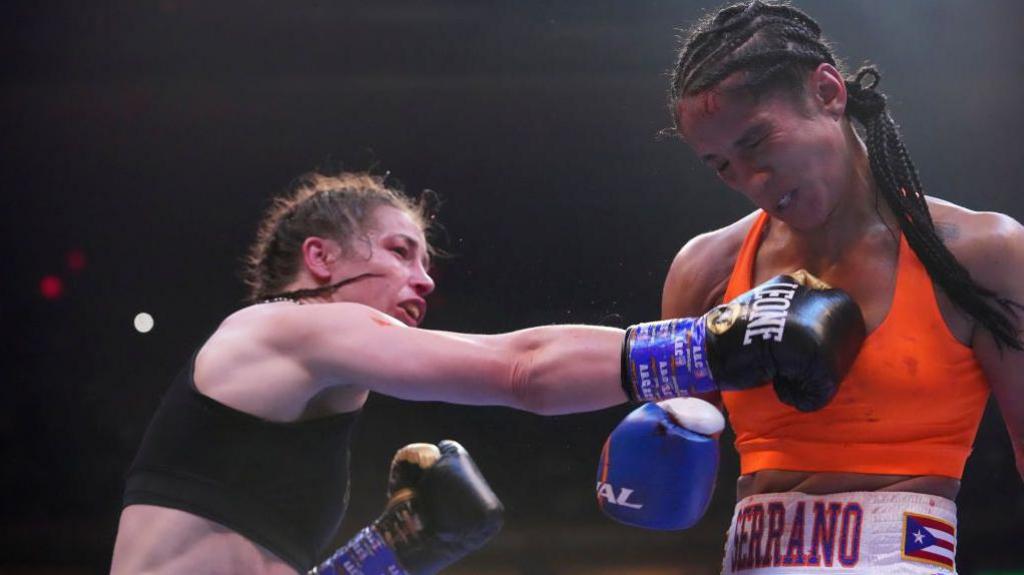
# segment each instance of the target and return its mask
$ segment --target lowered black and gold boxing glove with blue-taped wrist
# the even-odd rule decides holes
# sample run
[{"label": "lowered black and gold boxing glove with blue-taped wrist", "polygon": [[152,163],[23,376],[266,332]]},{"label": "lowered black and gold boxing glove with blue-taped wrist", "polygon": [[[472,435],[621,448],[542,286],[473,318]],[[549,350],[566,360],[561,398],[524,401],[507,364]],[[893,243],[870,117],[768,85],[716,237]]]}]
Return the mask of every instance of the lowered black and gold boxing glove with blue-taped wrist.
[{"label": "lowered black and gold boxing glove with blue-taped wrist", "polygon": [[432,575],[494,537],[503,513],[462,445],[407,445],[384,513],[309,575]]}]

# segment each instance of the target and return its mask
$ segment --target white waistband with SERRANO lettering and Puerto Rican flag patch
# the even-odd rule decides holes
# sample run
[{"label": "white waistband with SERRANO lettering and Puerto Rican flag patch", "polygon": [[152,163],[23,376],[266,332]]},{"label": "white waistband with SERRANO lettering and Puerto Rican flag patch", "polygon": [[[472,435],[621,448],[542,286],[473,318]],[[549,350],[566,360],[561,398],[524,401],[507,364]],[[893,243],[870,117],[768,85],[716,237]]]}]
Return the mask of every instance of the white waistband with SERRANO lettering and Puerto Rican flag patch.
[{"label": "white waistband with SERRANO lettering and Puerto Rican flag patch", "polygon": [[955,574],[956,504],[922,493],[766,493],[736,504],[722,573]]}]

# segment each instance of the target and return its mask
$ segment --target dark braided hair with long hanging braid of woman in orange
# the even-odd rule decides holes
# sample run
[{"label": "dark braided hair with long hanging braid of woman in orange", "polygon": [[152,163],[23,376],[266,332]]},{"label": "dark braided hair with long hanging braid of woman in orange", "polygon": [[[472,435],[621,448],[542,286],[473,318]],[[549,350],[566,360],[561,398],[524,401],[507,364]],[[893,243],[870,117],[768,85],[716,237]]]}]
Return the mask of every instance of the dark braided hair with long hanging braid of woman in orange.
[{"label": "dark braided hair with long hanging braid of woman in orange", "polygon": [[[679,100],[714,88],[737,72],[745,74],[738,89],[759,97],[776,89],[798,92],[806,75],[822,62],[841,68],[820,27],[804,12],[759,0],[728,6],[698,23],[679,52],[670,92],[673,119]],[[918,169],[886,108],[885,95],[877,89],[880,79],[873,67],[847,78],[846,112],[864,128],[881,195],[932,280],[992,334],[999,349],[1024,350],[1015,322],[1015,308],[1024,307],[975,282],[936,232]]]}]

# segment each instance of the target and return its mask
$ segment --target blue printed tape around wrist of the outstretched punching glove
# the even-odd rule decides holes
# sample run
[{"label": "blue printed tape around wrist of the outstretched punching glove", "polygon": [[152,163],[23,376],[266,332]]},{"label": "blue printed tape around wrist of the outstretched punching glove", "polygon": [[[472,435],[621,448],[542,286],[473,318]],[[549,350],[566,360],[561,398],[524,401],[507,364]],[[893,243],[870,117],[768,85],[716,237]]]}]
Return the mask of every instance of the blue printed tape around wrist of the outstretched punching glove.
[{"label": "blue printed tape around wrist of the outstretched punching glove", "polygon": [[631,399],[660,401],[717,390],[708,368],[705,338],[702,317],[631,326],[623,348],[623,386]]}]

